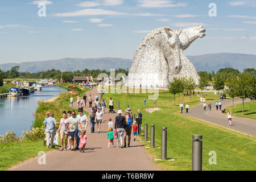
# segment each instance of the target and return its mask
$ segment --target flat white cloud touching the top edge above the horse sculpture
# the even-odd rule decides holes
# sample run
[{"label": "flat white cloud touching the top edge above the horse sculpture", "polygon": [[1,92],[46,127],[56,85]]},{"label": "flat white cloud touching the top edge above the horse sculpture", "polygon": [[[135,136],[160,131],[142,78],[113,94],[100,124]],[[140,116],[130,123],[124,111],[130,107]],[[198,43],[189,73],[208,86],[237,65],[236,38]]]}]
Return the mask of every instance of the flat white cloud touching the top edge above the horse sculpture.
[{"label": "flat white cloud touching the top edge above the horse sculpture", "polygon": [[139,7],[183,7],[187,6],[187,3],[179,2],[174,4],[173,1],[167,0],[139,0]]}]

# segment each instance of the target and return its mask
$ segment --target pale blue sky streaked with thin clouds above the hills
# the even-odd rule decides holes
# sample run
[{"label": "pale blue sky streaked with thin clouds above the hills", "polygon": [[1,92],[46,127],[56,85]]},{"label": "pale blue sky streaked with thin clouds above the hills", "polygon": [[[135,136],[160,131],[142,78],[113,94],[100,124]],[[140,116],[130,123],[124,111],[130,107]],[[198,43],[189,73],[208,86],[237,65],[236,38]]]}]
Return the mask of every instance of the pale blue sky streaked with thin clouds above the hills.
[{"label": "pale blue sky streaked with thin clouds above the hills", "polygon": [[[206,36],[193,42],[184,51],[185,55],[220,52],[256,55],[255,0],[1,0],[0,3],[0,64],[64,57],[133,59],[141,40],[151,30],[158,27],[179,30],[197,24],[206,29]],[[45,5],[45,11],[40,3]],[[44,12],[46,16],[42,16]]]}]

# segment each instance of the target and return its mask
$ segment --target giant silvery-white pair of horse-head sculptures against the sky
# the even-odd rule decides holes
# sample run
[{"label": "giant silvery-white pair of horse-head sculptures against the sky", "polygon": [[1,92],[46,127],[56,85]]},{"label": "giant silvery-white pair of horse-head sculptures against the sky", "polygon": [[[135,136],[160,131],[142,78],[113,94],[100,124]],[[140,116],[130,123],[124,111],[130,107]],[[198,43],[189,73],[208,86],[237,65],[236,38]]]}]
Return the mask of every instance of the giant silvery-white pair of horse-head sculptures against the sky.
[{"label": "giant silvery-white pair of horse-head sculptures against the sky", "polygon": [[202,26],[177,31],[159,27],[149,32],[134,54],[126,86],[166,87],[174,77],[192,77],[198,82],[199,75],[183,49],[203,38],[204,32]]}]

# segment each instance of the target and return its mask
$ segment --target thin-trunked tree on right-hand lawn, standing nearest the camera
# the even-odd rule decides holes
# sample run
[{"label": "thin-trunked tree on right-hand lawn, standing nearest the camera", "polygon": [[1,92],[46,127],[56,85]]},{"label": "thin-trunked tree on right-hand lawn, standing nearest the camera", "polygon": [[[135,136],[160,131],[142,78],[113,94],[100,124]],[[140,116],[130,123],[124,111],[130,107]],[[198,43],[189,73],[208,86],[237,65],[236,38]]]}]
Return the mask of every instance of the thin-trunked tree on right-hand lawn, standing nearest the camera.
[{"label": "thin-trunked tree on right-hand lawn, standing nearest the camera", "polygon": [[[245,98],[249,96],[249,93],[250,93],[250,74],[251,73],[242,73],[238,77],[237,96],[240,96],[243,101],[245,100]],[[242,115],[243,115],[243,105],[242,105]]]}]

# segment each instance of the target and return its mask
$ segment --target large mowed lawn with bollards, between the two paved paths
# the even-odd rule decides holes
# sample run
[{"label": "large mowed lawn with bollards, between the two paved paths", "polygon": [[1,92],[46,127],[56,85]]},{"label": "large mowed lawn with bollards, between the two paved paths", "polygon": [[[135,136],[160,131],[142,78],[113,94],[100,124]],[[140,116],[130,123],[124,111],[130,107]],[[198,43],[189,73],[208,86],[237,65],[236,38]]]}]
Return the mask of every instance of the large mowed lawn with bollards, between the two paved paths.
[{"label": "large mowed lawn with bollards, between the two paved paths", "polygon": [[[201,93],[200,93],[201,94]],[[205,94],[205,93],[203,93]],[[152,94],[151,94],[152,95]],[[191,170],[192,169],[192,135],[203,135],[203,170],[255,170],[256,169],[256,138],[247,137],[234,131],[226,130],[223,127],[212,125],[199,119],[187,117],[179,113],[178,98],[174,106],[174,97],[168,93],[159,94],[156,100],[148,100],[148,94],[104,94],[106,101],[112,97],[114,109],[117,109],[118,101],[120,109],[125,112],[127,104],[137,114],[142,111],[142,127],[148,123],[148,140],[150,140],[150,125],[155,124],[155,146],[161,144],[161,127],[167,127],[167,158],[174,161],[156,161],[155,164],[162,170]],[[218,96],[208,93],[205,96],[208,101],[217,100]],[[143,100],[146,98],[146,105]],[[169,102],[169,98],[172,102]],[[182,98],[180,97],[180,100]],[[199,97],[192,96],[184,98],[184,104],[190,107],[199,104]],[[144,108],[159,107],[161,111],[147,113]],[[137,115],[136,115],[137,116]],[[141,135],[141,139],[144,137]],[[142,142],[144,146],[150,146],[150,142]],[[133,146],[133,141],[131,141]],[[160,148],[146,148],[154,159],[161,158]],[[217,154],[217,164],[210,165],[208,155],[210,151]]]}]

